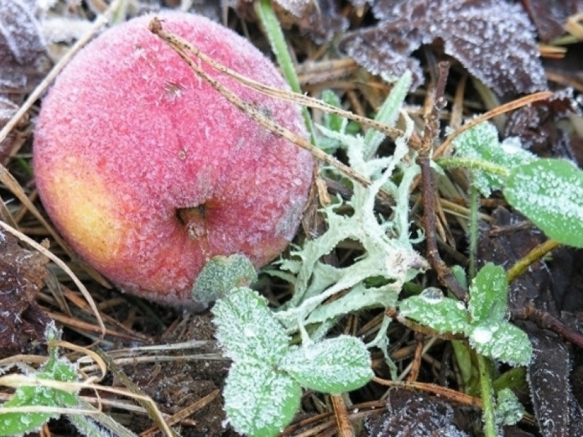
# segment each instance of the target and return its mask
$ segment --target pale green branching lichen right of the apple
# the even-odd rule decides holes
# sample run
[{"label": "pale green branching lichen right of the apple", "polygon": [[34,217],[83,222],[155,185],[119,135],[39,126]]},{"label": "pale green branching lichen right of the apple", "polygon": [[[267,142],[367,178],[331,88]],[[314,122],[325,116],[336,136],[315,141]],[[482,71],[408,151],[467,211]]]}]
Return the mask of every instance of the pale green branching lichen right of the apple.
[{"label": "pale green branching lichen right of the apple", "polygon": [[[316,239],[306,241],[301,248],[296,247],[290,259],[281,261],[280,270],[269,270],[294,285],[294,296],[276,312],[276,317],[289,332],[299,330],[305,333],[307,324],[322,323],[321,329],[311,337],[311,340],[318,340],[337,317],[370,307],[394,306],[403,285],[429,267],[413,248],[420,237],[412,238],[409,234],[409,192],[414,178],[419,174],[415,153],[407,146],[413,123],[405,113],[401,113],[409,81],[409,75],[401,78],[387,99],[388,106],[383,106],[379,111],[381,118],[378,121],[390,121],[388,126],[394,126],[399,115],[405,120],[405,132],[396,139],[392,156],[369,158],[372,156],[371,150],[377,150],[383,141],[382,134],[361,137],[346,134],[346,124],[341,125],[340,132],[319,126],[324,136],[344,148],[350,167],[372,183],[368,187],[354,185],[350,200],[337,198],[333,204],[322,209],[327,231]],[[339,177],[334,174],[334,169],[326,168],[324,171]],[[398,178],[394,177],[396,175]],[[381,189],[394,198],[390,219],[374,211],[374,203]],[[341,212],[347,209],[352,211],[352,215]],[[361,255],[353,264],[335,267],[322,263],[322,256],[346,240],[357,241],[362,247]],[[370,278],[381,278],[383,281],[381,285],[370,285],[366,283]],[[324,304],[331,296],[345,290],[350,291],[333,303]],[[383,323],[383,329],[372,342],[381,349],[385,347],[386,327],[388,323]]]}]

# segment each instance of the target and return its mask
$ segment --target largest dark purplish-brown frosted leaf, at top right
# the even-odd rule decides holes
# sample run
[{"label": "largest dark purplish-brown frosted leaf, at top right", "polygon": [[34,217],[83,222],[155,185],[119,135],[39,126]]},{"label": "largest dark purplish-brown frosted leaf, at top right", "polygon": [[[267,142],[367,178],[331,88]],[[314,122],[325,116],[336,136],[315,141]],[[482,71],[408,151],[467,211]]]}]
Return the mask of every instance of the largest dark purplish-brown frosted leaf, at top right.
[{"label": "largest dark purplish-brown frosted leaf, at top right", "polygon": [[341,49],[371,73],[423,71],[412,52],[442,40],[446,54],[459,60],[497,94],[512,96],[547,88],[534,27],[521,5],[504,0],[379,0],[379,24],[346,34]]}]

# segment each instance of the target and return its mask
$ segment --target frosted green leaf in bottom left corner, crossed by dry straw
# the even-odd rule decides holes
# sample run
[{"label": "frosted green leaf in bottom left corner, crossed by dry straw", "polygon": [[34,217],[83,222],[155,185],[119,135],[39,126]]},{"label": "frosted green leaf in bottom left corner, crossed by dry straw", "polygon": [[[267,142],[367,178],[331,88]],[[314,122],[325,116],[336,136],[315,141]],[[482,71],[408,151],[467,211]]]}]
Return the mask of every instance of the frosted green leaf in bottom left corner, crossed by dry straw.
[{"label": "frosted green leaf in bottom left corner, crossed by dry straw", "polygon": [[[77,381],[77,368],[57,355],[56,348],[50,350],[49,359],[40,372],[34,376],[51,381]],[[45,386],[22,386],[16,388],[12,397],[0,407],[0,436],[18,436],[40,428],[55,413],[4,413],[3,408],[13,407],[75,407],[78,404],[77,392],[66,392]]]}]

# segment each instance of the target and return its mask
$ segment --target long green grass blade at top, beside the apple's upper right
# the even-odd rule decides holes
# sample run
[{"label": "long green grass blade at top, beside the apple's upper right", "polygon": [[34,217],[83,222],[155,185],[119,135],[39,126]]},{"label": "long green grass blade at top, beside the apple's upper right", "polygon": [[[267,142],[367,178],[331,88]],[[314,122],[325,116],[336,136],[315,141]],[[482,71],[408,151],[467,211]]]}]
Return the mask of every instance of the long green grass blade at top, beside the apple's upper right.
[{"label": "long green grass blade at top, beside the apple's upper right", "polygon": [[[287,49],[287,44],[285,43],[285,37],[281,31],[281,25],[277,19],[277,16],[272,8],[270,0],[258,0],[254,3],[255,13],[257,18],[261,22],[263,31],[270,41],[272,51],[275,54],[277,63],[281,68],[283,77],[287,80],[287,83],[292,88],[294,93],[302,93],[302,88],[300,87],[300,80],[298,80],[298,75],[296,74],[296,69],[294,69],[294,62],[292,61],[292,56],[289,54]],[[308,132],[310,133],[311,142],[316,145],[316,131],[313,128],[313,123],[305,106],[302,106],[302,116],[304,117],[304,122]]]}]

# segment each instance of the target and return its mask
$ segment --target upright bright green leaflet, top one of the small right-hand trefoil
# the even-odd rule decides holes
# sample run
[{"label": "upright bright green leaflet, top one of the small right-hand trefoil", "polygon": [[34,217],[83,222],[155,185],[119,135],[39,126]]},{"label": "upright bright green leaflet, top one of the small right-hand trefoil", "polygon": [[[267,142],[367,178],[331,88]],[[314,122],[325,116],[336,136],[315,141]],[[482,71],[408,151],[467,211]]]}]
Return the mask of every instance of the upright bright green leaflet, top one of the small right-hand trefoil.
[{"label": "upright bright green leaflet, top one of the small right-hand trefoil", "polygon": [[506,319],[508,281],[504,269],[487,263],[470,287],[472,324],[497,324]]}]

